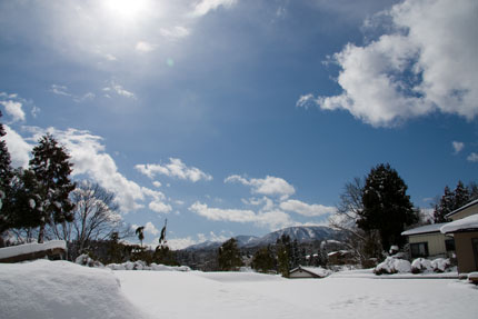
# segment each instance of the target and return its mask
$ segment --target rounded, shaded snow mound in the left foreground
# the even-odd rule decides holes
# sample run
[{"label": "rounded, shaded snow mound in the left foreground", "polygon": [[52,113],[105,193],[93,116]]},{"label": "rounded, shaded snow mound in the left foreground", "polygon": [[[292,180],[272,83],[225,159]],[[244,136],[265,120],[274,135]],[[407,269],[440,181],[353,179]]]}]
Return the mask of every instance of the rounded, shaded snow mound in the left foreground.
[{"label": "rounded, shaded snow mound in the left foreground", "polygon": [[44,259],[3,263],[0,282],[1,318],[147,318],[107,269]]}]

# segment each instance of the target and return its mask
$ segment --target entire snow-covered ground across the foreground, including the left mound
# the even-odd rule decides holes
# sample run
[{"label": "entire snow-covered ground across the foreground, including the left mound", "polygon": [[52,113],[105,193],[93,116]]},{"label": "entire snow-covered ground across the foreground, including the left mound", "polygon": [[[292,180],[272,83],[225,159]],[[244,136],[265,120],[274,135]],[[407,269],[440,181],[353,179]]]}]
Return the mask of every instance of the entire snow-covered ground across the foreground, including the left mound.
[{"label": "entire snow-covered ground across the foreground, including the left mound", "polygon": [[293,280],[250,272],[112,271],[40,260],[0,265],[0,318],[401,319],[478,313],[478,289],[464,280],[391,278],[370,270]]}]

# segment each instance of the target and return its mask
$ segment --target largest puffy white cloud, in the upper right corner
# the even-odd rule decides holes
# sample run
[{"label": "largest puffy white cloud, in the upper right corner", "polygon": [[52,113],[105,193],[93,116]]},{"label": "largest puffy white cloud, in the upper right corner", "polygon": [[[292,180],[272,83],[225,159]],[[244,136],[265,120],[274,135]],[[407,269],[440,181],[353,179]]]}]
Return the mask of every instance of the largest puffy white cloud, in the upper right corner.
[{"label": "largest puffy white cloud, in the upper right corner", "polygon": [[[339,96],[299,99],[323,110],[348,110],[374,127],[395,126],[434,111],[478,116],[478,52],[474,0],[406,0],[382,12],[392,32],[333,54]],[[459,21],[459,22],[457,22]]]}]

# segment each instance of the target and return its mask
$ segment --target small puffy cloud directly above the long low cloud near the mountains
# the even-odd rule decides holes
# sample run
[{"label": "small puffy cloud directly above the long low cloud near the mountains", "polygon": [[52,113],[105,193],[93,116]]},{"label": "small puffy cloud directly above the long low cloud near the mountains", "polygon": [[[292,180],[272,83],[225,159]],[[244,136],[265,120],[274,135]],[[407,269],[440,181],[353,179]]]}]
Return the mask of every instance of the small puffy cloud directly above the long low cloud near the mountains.
[{"label": "small puffy cloud directly above the long low cloud near the mountains", "polygon": [[293,186],[288,183],[285,179],[278,177],[267,176],[265,179],[246,179],[238,175],[232,175],[225,179],[225,182],[240,182],[245,186],[250,186],[253,193],[273,196],[281,196],[282,199],[296,192]]}]

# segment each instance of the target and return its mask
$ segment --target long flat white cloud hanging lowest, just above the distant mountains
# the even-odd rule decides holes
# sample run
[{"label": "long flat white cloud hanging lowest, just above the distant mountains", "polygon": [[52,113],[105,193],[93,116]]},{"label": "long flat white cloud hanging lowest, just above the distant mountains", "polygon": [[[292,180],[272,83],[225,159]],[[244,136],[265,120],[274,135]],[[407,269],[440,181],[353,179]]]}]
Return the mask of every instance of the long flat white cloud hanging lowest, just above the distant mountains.
[{"label": "long flat white cloud hanging lowest, just above the distant mountains", "polygon": [[245,209],[211,208],[199,201],[191,205],[189,210],[209,220],[242,223],[253,222],[270,230],[277,230],[296,223],[288,213],[280,210],[260,211],[256,213],[252,210]]}]

